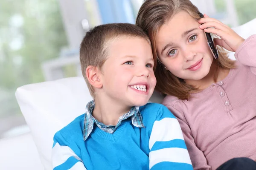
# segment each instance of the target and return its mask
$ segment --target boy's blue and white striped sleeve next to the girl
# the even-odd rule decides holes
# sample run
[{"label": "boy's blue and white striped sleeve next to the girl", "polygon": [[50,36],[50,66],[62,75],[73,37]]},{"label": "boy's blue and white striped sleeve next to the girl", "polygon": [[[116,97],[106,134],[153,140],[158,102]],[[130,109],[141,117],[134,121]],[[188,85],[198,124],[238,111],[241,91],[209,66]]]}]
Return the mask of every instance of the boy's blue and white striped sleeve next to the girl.
[{"label": "boy's blue and white striped sleeve next to the girl", "polygon": [[150,170],[193,170],[179,122],[162,106],[149,138]]}]

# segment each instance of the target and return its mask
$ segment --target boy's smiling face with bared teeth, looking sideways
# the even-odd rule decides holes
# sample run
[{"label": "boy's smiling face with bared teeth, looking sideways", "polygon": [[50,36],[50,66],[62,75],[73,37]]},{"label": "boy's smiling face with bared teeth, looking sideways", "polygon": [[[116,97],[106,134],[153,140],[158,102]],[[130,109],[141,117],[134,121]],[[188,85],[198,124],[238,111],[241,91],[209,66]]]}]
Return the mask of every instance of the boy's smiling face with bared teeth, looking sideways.
[{"label": "boy's smiling face with bared teeth, looking sideways", "polygon": [[143,38],[121,37],[108,48],[102,66],[102,90],[107,98],[126,107],[145,105],[151,97],[156,78],[151,46]]}]

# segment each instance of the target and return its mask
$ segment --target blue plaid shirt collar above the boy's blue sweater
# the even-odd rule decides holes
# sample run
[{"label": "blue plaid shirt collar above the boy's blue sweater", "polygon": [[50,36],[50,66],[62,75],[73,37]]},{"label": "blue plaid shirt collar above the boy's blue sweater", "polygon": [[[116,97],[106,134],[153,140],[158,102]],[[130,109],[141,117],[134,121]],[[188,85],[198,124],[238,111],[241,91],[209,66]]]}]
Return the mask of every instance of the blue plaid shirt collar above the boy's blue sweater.
[{"label": "blue plaid shirt collar above the boy's blue sweater", "polygon": [[119,127],[121,122],[125,119],[128,119],[131,117],[131,123],[136,127],[145,127],[143,124],[142,116],[140,114],[139,108],[140,107],[132,107],[131,110],[128,113],[125,113],[124,115],[120,116],[118,119],[118,122],[116,126],[114,125],[105,125],[102,122],[99,122],[97,119],[95,119],[92,115],[93,109],[94,109],[94,101],[90,101],[86,105],[86,111],[84,114],[84,130],[83,130],[83,136],[84,141],[88,138],[90,133],[93,131],[93,125],[96,123],[96,125],[103,131],[107,133],[113,134],[115,130]]}]

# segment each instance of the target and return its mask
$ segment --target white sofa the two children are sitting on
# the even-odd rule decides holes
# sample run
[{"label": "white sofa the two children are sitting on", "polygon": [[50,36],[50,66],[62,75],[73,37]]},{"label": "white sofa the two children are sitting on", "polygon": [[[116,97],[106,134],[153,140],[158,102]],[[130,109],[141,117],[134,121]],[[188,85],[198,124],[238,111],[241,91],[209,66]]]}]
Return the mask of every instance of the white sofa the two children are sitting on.
[{"label": "white sofa the two children are sitting on", "polygon": [[[233,29],[247,38],[256,34],[256,19]],[[81,77],[42,82],[18,88],[16,98],[31,132],[0,140],[0,170],[51,170],[52,137],[84,113],[87,86]],[[158,94],[151,98],[160,101]]]}]

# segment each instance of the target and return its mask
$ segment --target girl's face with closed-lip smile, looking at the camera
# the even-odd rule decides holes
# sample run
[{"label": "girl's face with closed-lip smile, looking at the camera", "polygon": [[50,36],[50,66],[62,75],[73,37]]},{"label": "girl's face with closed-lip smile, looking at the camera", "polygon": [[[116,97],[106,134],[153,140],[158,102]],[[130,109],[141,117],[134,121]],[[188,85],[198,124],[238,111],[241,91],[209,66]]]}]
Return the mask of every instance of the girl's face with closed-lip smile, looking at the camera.
[{"label": "girl's face with closed-lip smile, looking at the camera", "polygon": [[188,84],[209,73],[213,56],[200,24],[186,11],[180,11],[160,27],[157,55],[166,69]]}]

